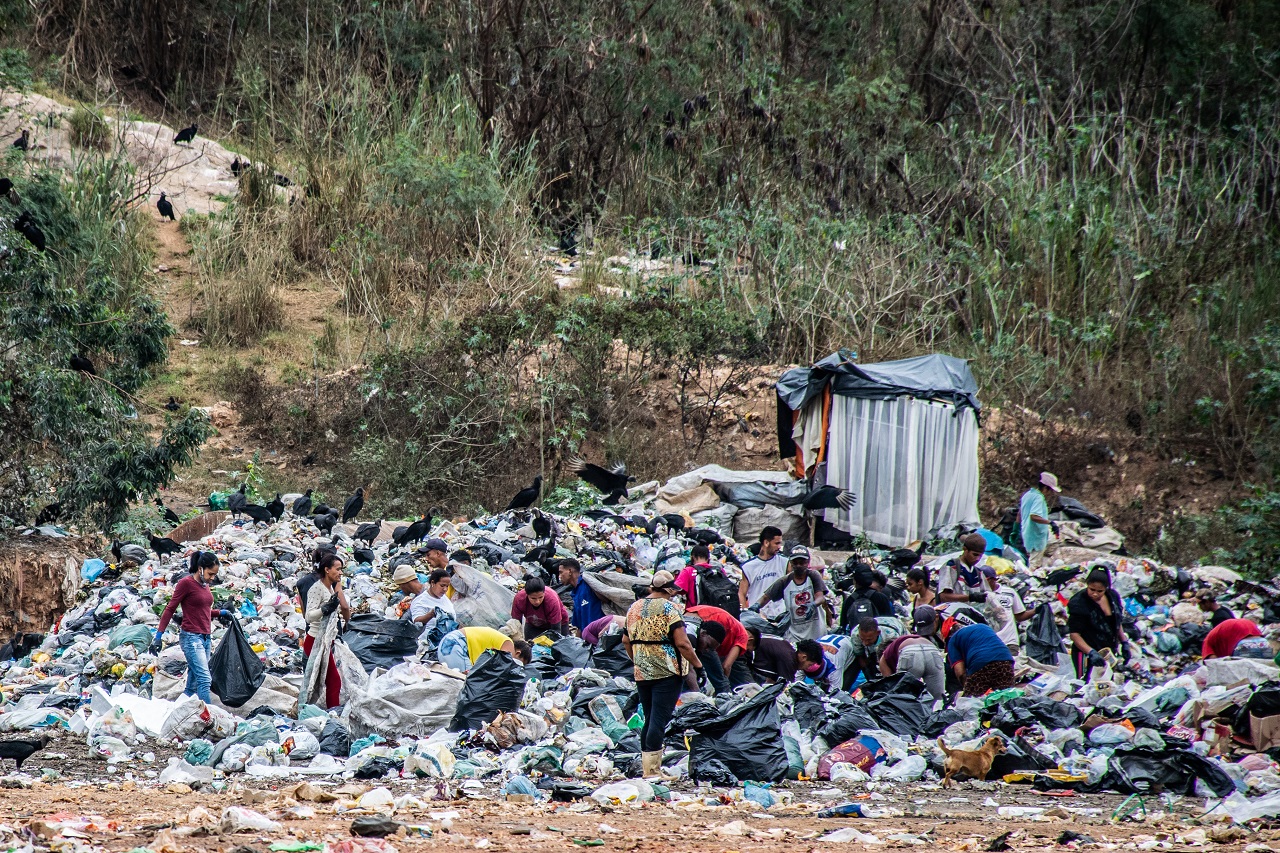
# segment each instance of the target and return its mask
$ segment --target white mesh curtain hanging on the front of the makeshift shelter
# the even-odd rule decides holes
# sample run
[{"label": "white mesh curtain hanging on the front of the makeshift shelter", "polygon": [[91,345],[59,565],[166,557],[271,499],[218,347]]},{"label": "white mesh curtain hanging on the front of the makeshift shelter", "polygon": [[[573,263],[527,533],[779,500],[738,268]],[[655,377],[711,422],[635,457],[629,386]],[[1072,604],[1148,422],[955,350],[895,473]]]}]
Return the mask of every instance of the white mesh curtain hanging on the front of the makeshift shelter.
[{"label": "white mesh curtain hanging on the front of the makeshift shelter", "polygon": [[831,406],[827,483],[858,494],[851,512],[826,510],[847,533],[899,547],[945,524],[978,521],[978,424],[973,411],[914,397]]}]

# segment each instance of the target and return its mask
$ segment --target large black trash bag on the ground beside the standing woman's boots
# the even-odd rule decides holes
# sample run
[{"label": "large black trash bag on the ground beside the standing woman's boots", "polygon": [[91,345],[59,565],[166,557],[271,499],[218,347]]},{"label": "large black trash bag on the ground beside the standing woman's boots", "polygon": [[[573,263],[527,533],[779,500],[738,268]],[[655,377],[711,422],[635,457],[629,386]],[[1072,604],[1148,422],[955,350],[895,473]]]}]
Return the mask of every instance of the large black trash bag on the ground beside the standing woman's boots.
[{"label": "large black trash bag on the ground beside the standing woman's boots", "polygon": [[[787,751],[778,724],[778,694],[785,684],[774,684],[726,715],[691,726],[696,733],[689,752],[689,772],[709,766],[718,758],[737,779],[781,781],[786,779]],[[672,725],[676,721],[672,720]],[[673,731],[671,726],[667,729]]]}]

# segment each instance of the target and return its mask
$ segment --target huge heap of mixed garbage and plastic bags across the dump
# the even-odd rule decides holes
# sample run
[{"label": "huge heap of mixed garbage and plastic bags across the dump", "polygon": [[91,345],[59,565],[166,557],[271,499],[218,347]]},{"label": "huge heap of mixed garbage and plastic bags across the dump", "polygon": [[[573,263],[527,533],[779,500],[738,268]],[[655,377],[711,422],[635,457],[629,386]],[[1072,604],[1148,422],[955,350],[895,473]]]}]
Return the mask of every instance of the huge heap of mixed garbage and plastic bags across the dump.
[{"label": "huge heap of mixed garbage and plastic bags across the dump", "polygon": [[[696,544],[710,547],[712,564],[736,587],[754,539],[732,538],[736,508],[726,510],[708,488],[714,471],[699,474],[660,489],[632,489],[626,506],[434,521],[413,542],[401,532],[399,544],[392,542],[392,523],[370,546],[352,539],[355,524],[325,534],[308,517],[287,512],[270,524],[229,519],[164,558],[125,548],[120,560],[88,560],[78,606],[44,638],[17,638],[6,649],[3,738],[65,729],[83,738],[104,767],[151,771],[140,776],[143,784],[218,789],[238,775],[320,786],[424,779],[616,804],[694,797],[682,793],[690,790],[685,783],[700,783],[737,792],[732,795],[760,808],[803,797],[804,786],[787,780],[846,789],[868,783],[878,790],[936,784],[945,772],[943,745],[979,751],[996,738],[1002,749],[988,780],[1042,792],[1196,797],[1211,815],[1236,822],[1280,816],[1280,667],[1270,657],[1201,660],[1211,615],[1197,593],[1215,592],[1219,605],[1272,640],[1280,596],[1220,567],[1178,569],[1064,548],[1028,569],[1010,549],[989,553],[987,565],[1001,584],[1034,611],[1015,626],[1014,686],[937,702],[908,674],[872,680],[859,674],[849,686],[840,678],[815,681],[801,667],[795,679],[750,680],[716,694],[687,690],[666,730],[660,775],[648,779],[641,777],[643,712],[617,626],[605,625],[593,643],[548,630],[532,638],[529,665],[486,651],[462,672],[440,662],[447,658],[440,631],[420,631],[407,619],[411,596],[392,579],[397,570],[406,576],[407,566],[419,583],[429,581],[421,542],[431,539],[443,539],[457,557],[448,565],[447,593],[457,626],[513,638],[525,634],[512,624],[512,603],[532,578],[548,594],[561,593],[573,612],[573,590],[561,585],[557,571],[564,558],[581,564],[605,615],[626,613],[655,571],[678,573]],[[332,647],[340,675],[332,708],[321,707],[323,690],[308,693],[305,683],[314,672],[305,670],[307,622],[297,598],[298,581],[314,574],[326,547],[344,558],[352,610]],[[191,690],[177,624],[154,643],[160,613],[196,551],[218,555],[214,607],[230,613],[212,624],[207,703],[184,695]],[[470,565],[460,551],[468,552]],[[956,551],[924,555],[920,565],[941,567]],[[901,578],[910,562],[899,557],[872,551],[823,566],[815,552],[810,565],[835,596],[849,597],[847,574],[869,564],[887,578],[883,592],[896,611],[881,624],[909,626]],[[1123,602],[1129,654],[1108,654],[1083,681],[1069,657],[1065,603],[1098,565],[1110,570]],[[737,617],[760,637],[787,635],[785,617],[749,608]],[[691,634],[696,621],[690,617]],[[831,626],[822,643],[844,661],[849,639]],[[159,744],[175,745],[182,756],[148,766],[145,758]],[[375,790],[390,803],[385,788]],[[856,811],[844,808],[829,813]],[[228,809],[221,820],[256,820],[241,811]]]}]

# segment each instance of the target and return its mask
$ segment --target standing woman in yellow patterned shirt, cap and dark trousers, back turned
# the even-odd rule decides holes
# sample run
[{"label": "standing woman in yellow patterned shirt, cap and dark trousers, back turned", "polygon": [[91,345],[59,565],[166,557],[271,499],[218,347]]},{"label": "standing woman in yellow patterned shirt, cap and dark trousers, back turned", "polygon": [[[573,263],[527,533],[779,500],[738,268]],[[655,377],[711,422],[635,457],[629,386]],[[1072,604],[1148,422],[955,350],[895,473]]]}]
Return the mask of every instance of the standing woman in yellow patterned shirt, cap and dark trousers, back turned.
[{"label": "standing woman in yellow patterned shirt, cap and dark trousers, back turned", "polygon": [[622,633],[622,646],[635,665],[632,675],[644,710],[640,749],[645,776],[662,774],[662,739],[676,712],[689,667],[699,684],[707,678],[685,633],[682,612],[675,602],[677,592],[669,571],[655,573],[649,581],[649,594],[627,610]]}]

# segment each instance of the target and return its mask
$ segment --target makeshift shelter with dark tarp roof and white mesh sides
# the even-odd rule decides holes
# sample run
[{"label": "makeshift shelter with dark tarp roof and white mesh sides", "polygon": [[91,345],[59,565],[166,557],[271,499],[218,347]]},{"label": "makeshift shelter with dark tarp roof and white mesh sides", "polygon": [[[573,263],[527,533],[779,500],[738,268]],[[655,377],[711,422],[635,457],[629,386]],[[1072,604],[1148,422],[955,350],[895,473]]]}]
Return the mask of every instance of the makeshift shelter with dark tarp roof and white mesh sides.
[{"label": "makeshift shelter with dark tarp roof and white mesh sides", "polygon": [[850,511],[824,511],[840,530],[901,546],[978,523],[980,403],[963,359],[860,365],[841,351],[786,371],[777,392],[782,457],[858,496]]}]

